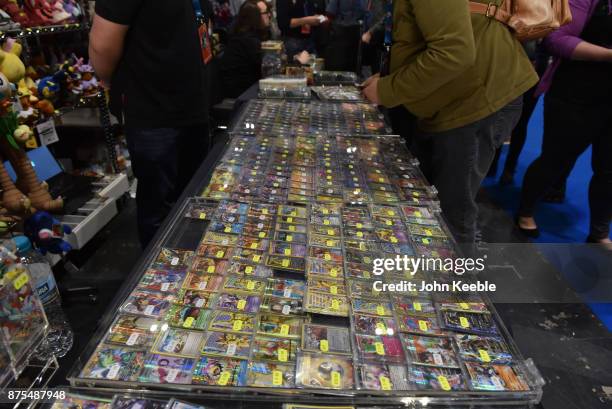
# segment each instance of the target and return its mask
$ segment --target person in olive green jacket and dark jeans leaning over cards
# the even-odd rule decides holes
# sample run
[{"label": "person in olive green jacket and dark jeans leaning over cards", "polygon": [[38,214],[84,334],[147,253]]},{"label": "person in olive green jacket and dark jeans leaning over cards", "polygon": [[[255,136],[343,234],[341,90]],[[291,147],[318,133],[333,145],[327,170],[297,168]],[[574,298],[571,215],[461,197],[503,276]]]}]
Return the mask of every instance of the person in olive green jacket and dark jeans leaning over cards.
[{"label": "person in olive green jacket and dark jeans leaning over cards", "polygon": [[370,101],[418,118],[413,151],[436,186],[455,238],[474,243],[476,194],[538,81],[504,24],[468,0],[395,0],[390,74],[364,83]]}]

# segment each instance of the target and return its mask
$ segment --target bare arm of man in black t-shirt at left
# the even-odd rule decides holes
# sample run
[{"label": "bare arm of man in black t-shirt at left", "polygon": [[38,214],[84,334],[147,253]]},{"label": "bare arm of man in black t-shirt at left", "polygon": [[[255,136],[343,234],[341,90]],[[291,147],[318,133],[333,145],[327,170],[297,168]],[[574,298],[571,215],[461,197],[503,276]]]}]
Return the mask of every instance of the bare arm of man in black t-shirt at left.
[{"label": "bare arm of man in black t-shirt at left", "polygon": [[94,16],[89,33],[89,58],[96,74],[105,84],[111,78],[123,54],[123,43],[129,26]]}]

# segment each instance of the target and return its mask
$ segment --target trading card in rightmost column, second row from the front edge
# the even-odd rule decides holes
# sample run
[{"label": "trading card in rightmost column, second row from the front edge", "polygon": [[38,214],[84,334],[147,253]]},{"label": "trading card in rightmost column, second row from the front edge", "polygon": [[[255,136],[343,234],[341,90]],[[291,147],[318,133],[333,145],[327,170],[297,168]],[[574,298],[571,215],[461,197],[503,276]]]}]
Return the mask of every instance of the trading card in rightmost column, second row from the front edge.
[{"label": "trading card in rightmost column, second row from the front edge", "polygon": [[505,364],[512,361],[508,345],[500,338],[456,334],[459,355],[466,361],[485,364]]}]

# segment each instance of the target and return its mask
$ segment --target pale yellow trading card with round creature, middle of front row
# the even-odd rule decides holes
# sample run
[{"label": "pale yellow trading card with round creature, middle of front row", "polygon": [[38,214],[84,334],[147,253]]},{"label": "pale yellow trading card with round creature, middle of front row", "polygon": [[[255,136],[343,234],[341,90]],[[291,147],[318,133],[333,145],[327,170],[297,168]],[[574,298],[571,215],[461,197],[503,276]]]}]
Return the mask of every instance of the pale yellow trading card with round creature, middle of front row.
[{"label": "pale yellow trading card with round creature, middle of front row", "polygon": [[298,356],[298,387],[348,390],[353,389],[354,384],[353,362],[349,358],[307,353]]}]

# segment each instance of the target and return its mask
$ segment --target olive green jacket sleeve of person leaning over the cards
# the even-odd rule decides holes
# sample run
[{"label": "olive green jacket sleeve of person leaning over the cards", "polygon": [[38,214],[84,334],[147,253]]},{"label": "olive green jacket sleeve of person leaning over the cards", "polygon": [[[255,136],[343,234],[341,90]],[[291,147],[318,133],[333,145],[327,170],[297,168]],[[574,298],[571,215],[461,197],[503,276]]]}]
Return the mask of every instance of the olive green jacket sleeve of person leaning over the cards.
[{"label": "olive green jacket sleeve of person leaning over the cards", "polygon": [[426,48],[378,83],[380,103],[387,107],[418,104],[474,64],[476,45],[466,0],[412,0]]}]

